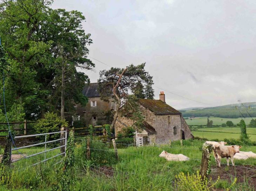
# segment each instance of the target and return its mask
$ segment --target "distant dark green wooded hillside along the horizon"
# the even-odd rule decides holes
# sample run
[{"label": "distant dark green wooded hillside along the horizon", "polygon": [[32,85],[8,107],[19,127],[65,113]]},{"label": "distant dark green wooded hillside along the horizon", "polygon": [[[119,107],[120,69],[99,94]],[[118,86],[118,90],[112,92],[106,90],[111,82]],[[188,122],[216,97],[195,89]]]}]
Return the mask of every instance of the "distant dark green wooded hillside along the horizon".
[{"label": "distant dark green wooded hillside along the horizon", "polygon": [[[242,115],[241,115],[241,113]],[[247,113],[249,112],[249,114]],[[183,117],[222,117],[222,118],[238,118],[238,117],[256,117],[256,108],[215,108],[200,109],[189,112],[182,112]]]}]

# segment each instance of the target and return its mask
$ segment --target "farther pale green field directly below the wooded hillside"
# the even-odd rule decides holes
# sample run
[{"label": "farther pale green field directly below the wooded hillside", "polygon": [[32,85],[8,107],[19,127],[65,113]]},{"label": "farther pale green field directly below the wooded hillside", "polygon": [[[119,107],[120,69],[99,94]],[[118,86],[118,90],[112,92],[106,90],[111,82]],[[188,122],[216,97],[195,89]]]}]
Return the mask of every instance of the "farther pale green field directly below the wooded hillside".
[{"label": "farther pale green field directly below the wooded hillside", "polygon": [[[209,117],[210,120],[213,120],[213,125],[221,125],[222,123],[226,123],[227,121],[231,121],[234,124],[240,122],[241,118],[220,118],[220,117]],[[243,118],[244,119],[244,118]],[[255,117],[254,117],[255,119]],[[250,117],[245,117],[245,124],[248,125],[251,121]],[[197,118],[197,119],[186,119],[188,125],[206,125],[207,117]]]}]

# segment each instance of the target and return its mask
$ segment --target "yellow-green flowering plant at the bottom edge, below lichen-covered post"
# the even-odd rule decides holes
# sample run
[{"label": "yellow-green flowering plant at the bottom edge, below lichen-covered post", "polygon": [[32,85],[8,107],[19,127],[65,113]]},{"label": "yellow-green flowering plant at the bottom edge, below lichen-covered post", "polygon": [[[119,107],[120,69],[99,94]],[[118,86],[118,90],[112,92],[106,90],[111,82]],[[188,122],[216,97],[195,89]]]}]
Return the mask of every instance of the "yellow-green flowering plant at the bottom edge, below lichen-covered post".
[{"label": "yellow-green flowering plant at the bottom edge, below lichen-covered post", "polygon": [[217,182],[219,181],[220,177],[218,177],[217,181],[213,183],[211,186],[208,186],[212,180],[208,181],[206,179],[205,181],[202,180],[201,175],[199,174],[199,171],[196,172],[196,175],[194,173],[192,175],[186,176],[183,172],[180,172],[180,174],[176,175],[175,180],[175,188],[178,188],[182,191],[210,191],[211,188],[213,188]]}]

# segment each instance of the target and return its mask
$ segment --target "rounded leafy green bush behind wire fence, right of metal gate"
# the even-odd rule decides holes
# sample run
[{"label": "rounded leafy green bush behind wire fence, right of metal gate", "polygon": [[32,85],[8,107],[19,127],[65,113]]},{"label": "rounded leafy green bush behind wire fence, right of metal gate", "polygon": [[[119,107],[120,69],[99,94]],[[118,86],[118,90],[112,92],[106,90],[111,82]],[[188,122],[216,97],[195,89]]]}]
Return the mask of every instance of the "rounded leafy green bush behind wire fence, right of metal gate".
[{"label": "rounded leafy green bush behind wire fence, right of metal gate", "polygon": [[[98,140],[91,140],[90,142],[90,161],[95,166],[103,166],[106,163],[115,164],[115,152],[110,151],[107,144]],[[87,137],[82,142],[82,155],[81,157],[86,158],[87,156]],[[99,149],[99,150],[97,150]]]}]

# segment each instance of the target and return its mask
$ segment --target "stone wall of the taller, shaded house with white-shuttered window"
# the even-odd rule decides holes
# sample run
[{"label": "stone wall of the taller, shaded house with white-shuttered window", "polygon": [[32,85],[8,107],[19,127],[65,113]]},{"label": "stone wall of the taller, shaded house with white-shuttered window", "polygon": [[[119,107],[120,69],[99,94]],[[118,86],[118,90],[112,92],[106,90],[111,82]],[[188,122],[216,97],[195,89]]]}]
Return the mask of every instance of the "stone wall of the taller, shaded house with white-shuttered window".
[{"label": "stone wall of the taller, shaded house with white-shuttered window", "polygon": [[[96,106],[92,107],[91,102],[96,101]],[[82,107],[81,104],[77,104],[77,110],[78,115],[80,115],[81,118],[86,119],[86,126],[97,125],[97,121],[102,121],[102,124],[108,124],[106,118],[106,112],[108,112],[111,109],[115,109],[115,102],[113,100],[110,100],[109,102],[105,102],[103,100],[100,100],[100,97],[89,97],[89,102],[87,103],[86,107]],[[93,120],[93,117],[96,117],[96,120]]]}]

